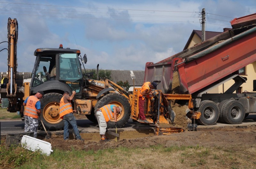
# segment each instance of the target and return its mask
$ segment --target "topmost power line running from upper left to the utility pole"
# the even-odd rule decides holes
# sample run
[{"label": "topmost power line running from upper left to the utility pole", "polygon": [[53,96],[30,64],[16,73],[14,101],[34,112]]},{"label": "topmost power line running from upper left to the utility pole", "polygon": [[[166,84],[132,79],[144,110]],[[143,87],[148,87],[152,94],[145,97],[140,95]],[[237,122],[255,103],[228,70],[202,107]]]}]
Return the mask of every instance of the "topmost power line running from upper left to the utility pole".
[{"label": "topmost power line running from upper left to the utility pole", "polygon": [[92,8],[92,7],[81,7],[81,6],[61,6],[61,5],[44,5],[44,4],[25,4],[25,3],[11,3],[11,2],[0,2],[5,4],[23,4],[23,5],[39,5],[39,6],[55,6],[55,7],[71,7],[71,8],[88,8],[88,9],[107,9],[107,10],[126,10],[126,11],[153,11],[153,12],[188,12],[188,13],[199,13],[192,11],[158,11],[158,10],[135,10],[135,9],[110,9],[110,8]]}]

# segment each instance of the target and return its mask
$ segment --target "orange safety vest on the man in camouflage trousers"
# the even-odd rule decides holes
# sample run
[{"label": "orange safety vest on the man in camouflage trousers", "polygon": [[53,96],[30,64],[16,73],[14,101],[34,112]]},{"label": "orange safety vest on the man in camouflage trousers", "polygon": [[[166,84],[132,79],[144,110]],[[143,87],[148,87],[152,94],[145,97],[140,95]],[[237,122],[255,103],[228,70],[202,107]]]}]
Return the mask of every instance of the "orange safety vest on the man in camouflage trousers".
[{"label": "orange safety vest on the man in camouflage trousers", "polygon": [[36,102],[38,102],[39,99],[37,99],[35,96],[29,96],[27,103],[26,103],[26,109],[24,115],[38,118],[38,114],[36,112]]}]

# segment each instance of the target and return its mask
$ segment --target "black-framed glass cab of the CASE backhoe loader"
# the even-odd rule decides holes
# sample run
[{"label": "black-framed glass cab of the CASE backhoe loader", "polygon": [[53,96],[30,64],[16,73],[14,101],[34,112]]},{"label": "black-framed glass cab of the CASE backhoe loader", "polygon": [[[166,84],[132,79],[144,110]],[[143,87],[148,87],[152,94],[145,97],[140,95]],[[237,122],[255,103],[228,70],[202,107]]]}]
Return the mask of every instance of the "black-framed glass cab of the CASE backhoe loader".
[{"label": "black-framed glass cab of the CASE backhoe loader", "polygon": [[[31,90],[43,86],[45,90],[47,88],[49,90],[49,86],[61,82],[65,83],[71,90],[75,90],[77,94],[81,94],[83,74],[78,59],[79,50],[39,48],[36,49],[34,55],[36,56],[36,62],[31,79]],[[51,87],[51,89],[54,90],[54,87]]]}]

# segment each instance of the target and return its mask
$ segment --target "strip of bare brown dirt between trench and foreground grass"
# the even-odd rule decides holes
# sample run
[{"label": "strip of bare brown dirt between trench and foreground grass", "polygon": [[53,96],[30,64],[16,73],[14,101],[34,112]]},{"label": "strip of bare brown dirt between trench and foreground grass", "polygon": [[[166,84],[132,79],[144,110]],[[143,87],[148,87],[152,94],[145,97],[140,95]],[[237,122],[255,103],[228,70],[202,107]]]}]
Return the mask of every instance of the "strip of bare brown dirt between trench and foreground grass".
[{"label": "strip of bare brown dirt between trench and foreground grass", "polygon": [[256,144],[256,132],[250,127],[237,128],[236,131],[185,131],[170,135],[150,136],[133,139],[122,139],[110,142],[87,142],[80,140],[67,140],[63,138],[44,139],[52,144],[52,149],[71,150],[102,150],[116,147],[141,147],[146,148],[152,145],[161,144],[170,146],[225,146],[237,144]]}]

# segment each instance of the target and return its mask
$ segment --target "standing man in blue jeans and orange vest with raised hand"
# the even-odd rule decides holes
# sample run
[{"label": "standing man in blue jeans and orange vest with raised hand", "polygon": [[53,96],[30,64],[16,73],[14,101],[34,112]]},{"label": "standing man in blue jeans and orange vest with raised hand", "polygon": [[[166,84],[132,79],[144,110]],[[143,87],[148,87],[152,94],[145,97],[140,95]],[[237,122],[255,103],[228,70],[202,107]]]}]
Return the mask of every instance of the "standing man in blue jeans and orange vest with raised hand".
[{"label": "standing man in blue jeans and orange vest with raised hand", "polygon": [[69,96],[68,91],[66,91],[63,93],[63,97],[60,99],[60,118],[64,120],[63,138],[64,140],[68,140],[68,136],[69,136],[68,126],[70,124],[74,130],[76,139],[84,141],[84,139],[82,139],[79,134],[79,130],[77,128],[77,123],[76,123],[76,117],[73,115],[73,112],[76,112],[76,110],[73,110],[71,100],[74,98],[75,94],[76,92],[73,91],[72,95]]}]

